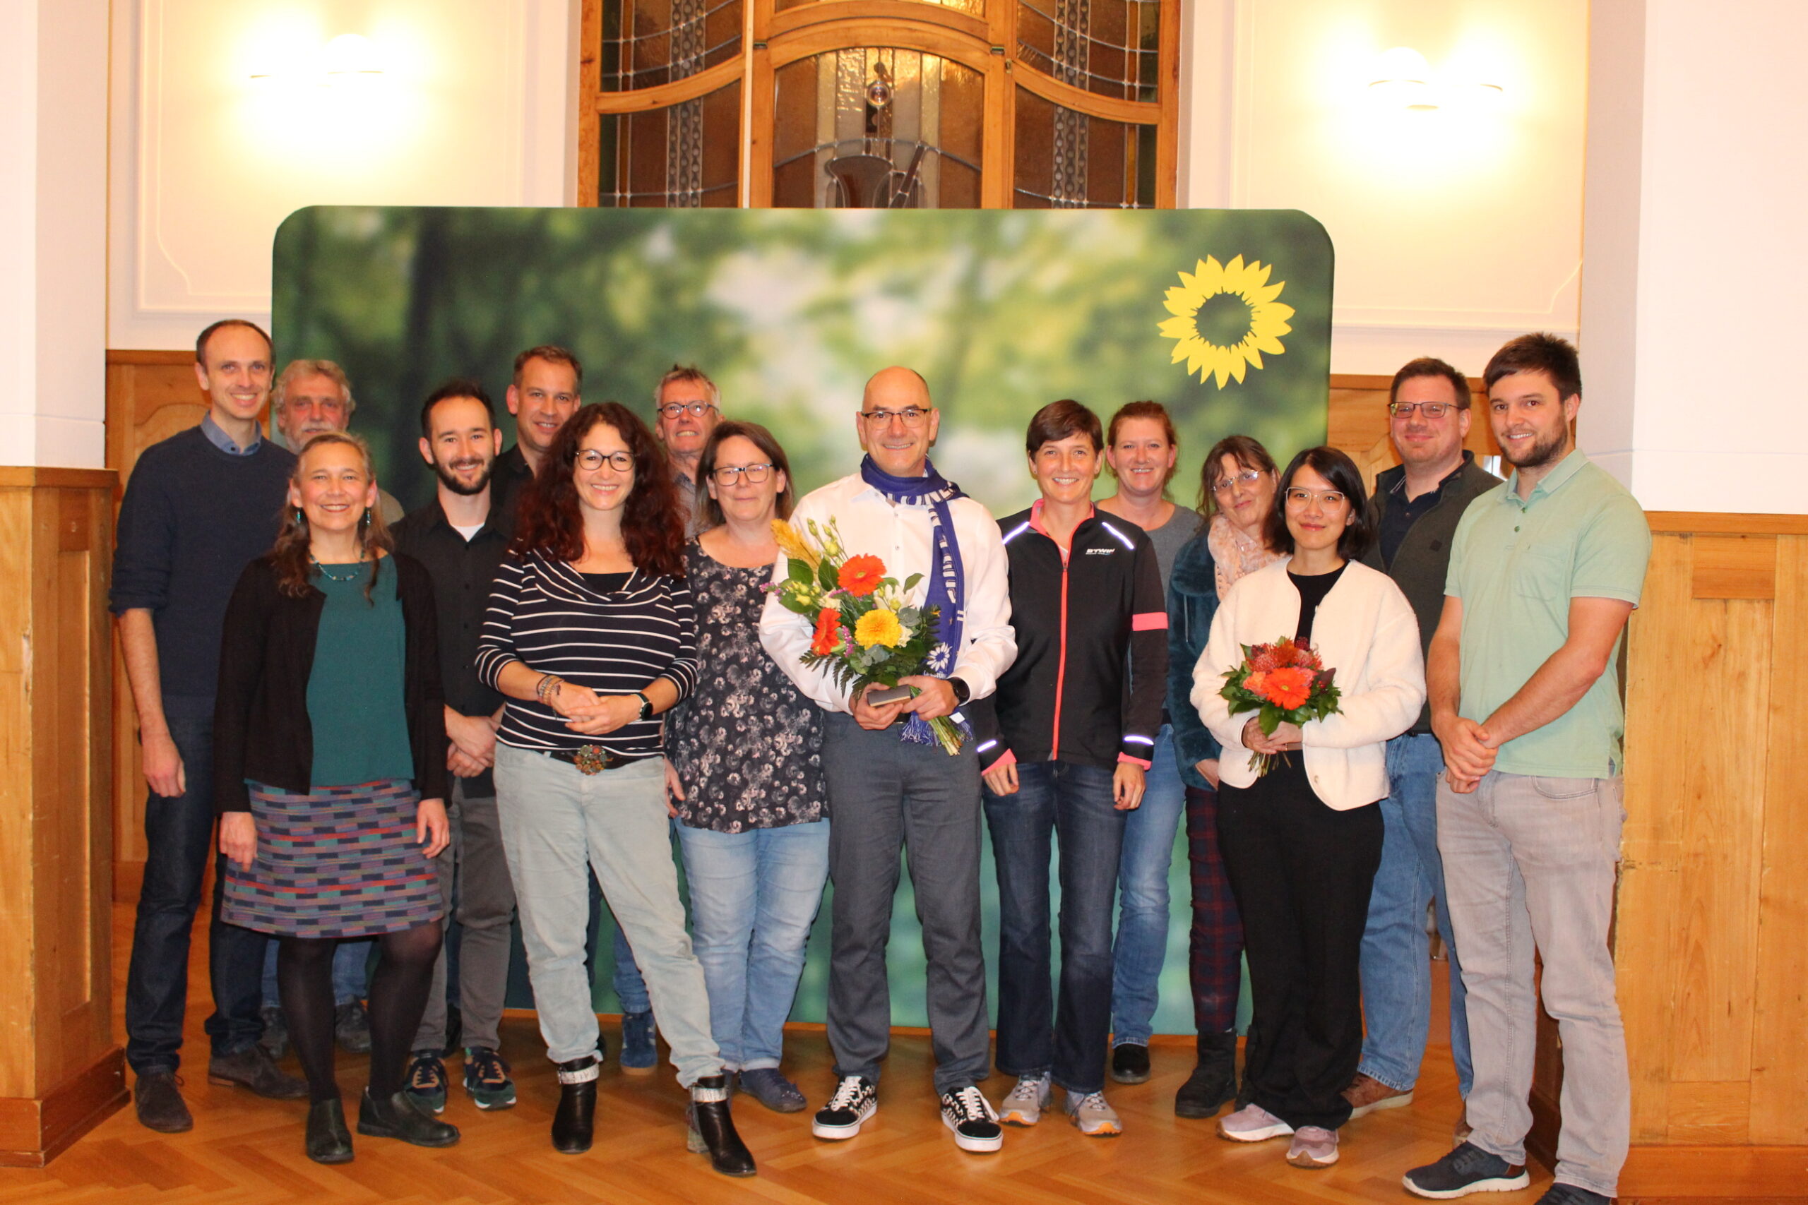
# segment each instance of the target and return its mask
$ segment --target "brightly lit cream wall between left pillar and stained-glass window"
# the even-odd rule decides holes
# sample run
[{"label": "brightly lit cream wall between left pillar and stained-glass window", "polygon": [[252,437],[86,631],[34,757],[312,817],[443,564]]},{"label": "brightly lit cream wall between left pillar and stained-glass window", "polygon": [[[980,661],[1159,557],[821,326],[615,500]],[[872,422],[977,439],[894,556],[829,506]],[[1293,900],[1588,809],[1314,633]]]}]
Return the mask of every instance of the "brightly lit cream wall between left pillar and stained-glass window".
[{"label": "brightly lit cream wall between left pillar and stained-glass window", "polygon": [[[108,347],[268,322],[271,237],[302,206],[566,204],[573,14],[570,0],[116,0]],[[383,76],[325,87],[306,67],[347,33]]]}]

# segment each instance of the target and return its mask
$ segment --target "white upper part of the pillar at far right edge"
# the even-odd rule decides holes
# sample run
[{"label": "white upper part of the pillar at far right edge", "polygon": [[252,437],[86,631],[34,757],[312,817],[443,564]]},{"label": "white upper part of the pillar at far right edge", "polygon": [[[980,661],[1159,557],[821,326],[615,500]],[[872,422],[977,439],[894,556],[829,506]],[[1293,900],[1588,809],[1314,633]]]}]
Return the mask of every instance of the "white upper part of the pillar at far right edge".
[{"label": "white upper part of the pillar at far right edge", "polygon": [[1808,7],[1595,0],[1593,25],[1582,444],[1649,509],[1808,513]]}]

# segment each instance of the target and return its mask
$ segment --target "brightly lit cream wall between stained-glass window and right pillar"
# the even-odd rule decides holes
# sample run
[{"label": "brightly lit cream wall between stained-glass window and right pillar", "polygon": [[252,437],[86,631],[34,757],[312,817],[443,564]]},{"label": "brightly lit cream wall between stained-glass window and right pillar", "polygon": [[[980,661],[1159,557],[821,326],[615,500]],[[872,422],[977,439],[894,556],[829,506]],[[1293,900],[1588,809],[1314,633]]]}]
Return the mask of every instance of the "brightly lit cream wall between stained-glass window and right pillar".
[{"label": "brightly lit cream wall between stained-glass window and right pillar", "polygon": [[[1587,5],[1577,0],[1193,0],[1182,204],[1305,210],[1336,248],[1332,372],[1577,332]],[[1492,105],[1387,110],[1408,45]]]}]

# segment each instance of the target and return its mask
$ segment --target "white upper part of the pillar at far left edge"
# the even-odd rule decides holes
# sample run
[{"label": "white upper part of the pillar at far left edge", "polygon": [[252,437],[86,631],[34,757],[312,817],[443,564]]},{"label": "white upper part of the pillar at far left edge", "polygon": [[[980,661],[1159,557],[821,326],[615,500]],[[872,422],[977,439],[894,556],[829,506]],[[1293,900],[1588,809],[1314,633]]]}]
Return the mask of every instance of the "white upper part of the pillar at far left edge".
[{"label": "white upper part of the pillar at far left edge", "polygon": [[107,0],[0,5],[0,464],[107,444]]}]

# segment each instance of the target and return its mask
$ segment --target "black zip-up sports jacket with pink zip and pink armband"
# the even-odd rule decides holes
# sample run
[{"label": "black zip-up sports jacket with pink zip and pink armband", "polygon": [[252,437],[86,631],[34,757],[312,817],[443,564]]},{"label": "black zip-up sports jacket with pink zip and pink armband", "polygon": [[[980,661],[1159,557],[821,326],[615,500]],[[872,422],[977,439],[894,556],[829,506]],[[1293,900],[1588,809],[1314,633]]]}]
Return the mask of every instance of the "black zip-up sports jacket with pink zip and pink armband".
[{"label": "black zip-up sports jacket with pink zip and pink armband", "polygon": [[1069,555],[1041,502],[998,520],[1011,560],[1018,656],[998,692],[967,705],[980,768],[1072,761],[1144,770],[1161,730],[1168,607],[1148,535],[1097,509]]}]

